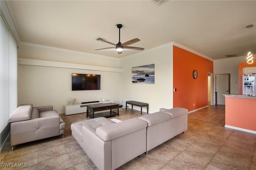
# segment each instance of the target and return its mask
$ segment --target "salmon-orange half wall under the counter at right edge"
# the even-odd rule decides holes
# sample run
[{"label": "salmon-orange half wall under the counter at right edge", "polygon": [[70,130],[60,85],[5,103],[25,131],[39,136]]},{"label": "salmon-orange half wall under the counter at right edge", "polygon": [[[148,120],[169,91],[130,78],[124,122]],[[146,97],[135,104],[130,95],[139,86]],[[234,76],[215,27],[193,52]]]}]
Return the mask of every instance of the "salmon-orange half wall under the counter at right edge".
[{"label": "salmon-orange half wall under the counter at right edge", "polygon": [[225,97],[225,125],[256,131],[256,98]]}]

